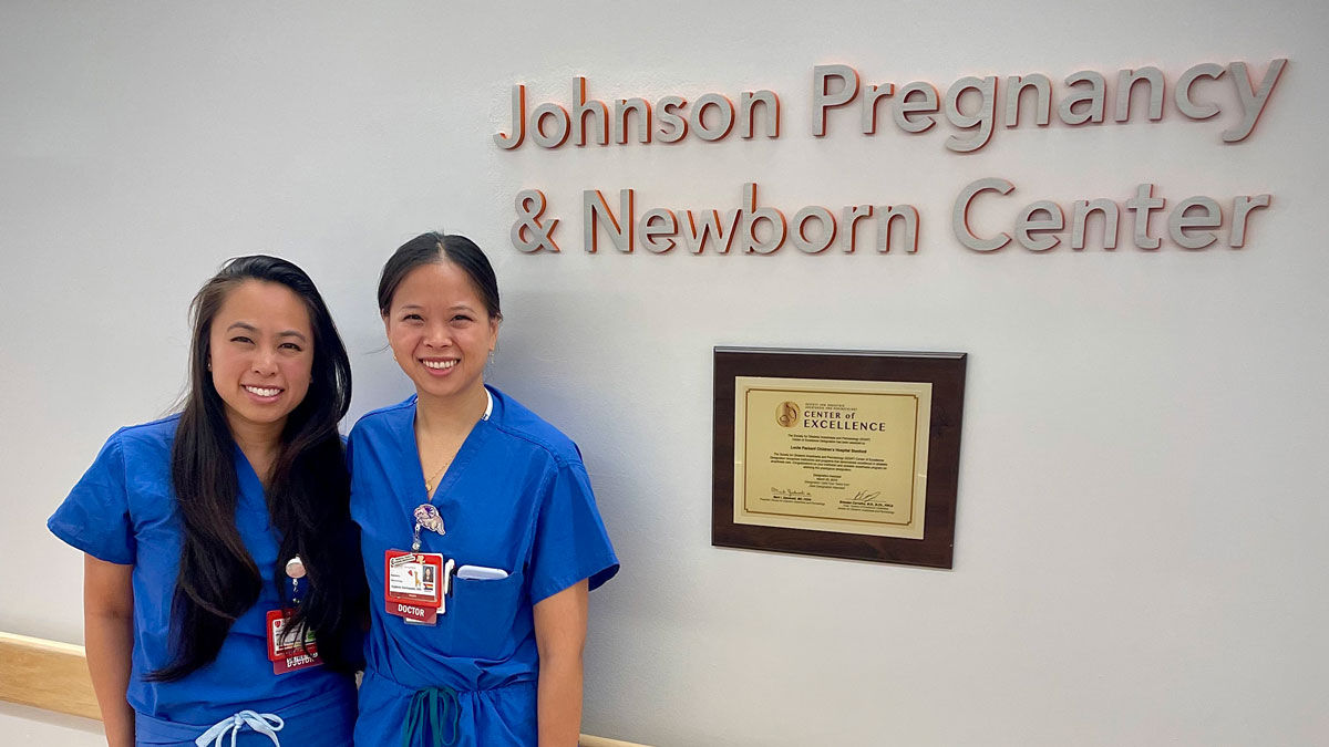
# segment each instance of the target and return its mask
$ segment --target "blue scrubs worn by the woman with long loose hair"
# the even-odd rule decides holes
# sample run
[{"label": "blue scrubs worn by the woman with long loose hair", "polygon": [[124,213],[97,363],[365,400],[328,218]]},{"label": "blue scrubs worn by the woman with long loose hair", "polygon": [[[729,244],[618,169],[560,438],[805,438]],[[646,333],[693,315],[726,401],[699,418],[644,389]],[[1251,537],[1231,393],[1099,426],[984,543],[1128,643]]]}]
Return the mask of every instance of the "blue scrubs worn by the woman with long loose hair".
[{"label": "blue scrubs worn by the woman with long loose hair", "polygon": [[[178,421],[179,416],[171,416],[117,431],[47,521],[51,532],[69,545],[108,562],[134,566],[134,650],[126,699],[140,714],[138,743],[174,743],[146,734],[166,731],[183,742],[187,732],[197,731],[193,736],[198,736],[202,730],[242,710],[300,714],[315,702],[320,711],[335,711],[335,719],[328,714],[323,719],[346,716],[344,727],[348,728],[355,699],[350,677],[324,666],[272,674],[266,615],[283,606],[272,581],[278,537],[268,520],[263,485],[238,447],[234,455],[239,482],[235,525],[263,577],[258,602],[231,625],[214,662],[175,682],[144,679],[171,661],[170,613],[182,542],[170,475]],[[193,744],[193,736],[187,736],[187,743]],[[344,739],[318,736],[312,727],[296,723],[287,723],[279,736],[283,747],[346,743]],[[268,738],[255,732],[241,734],[241,743],[258,739],[253,743],[271,744]]]}]

